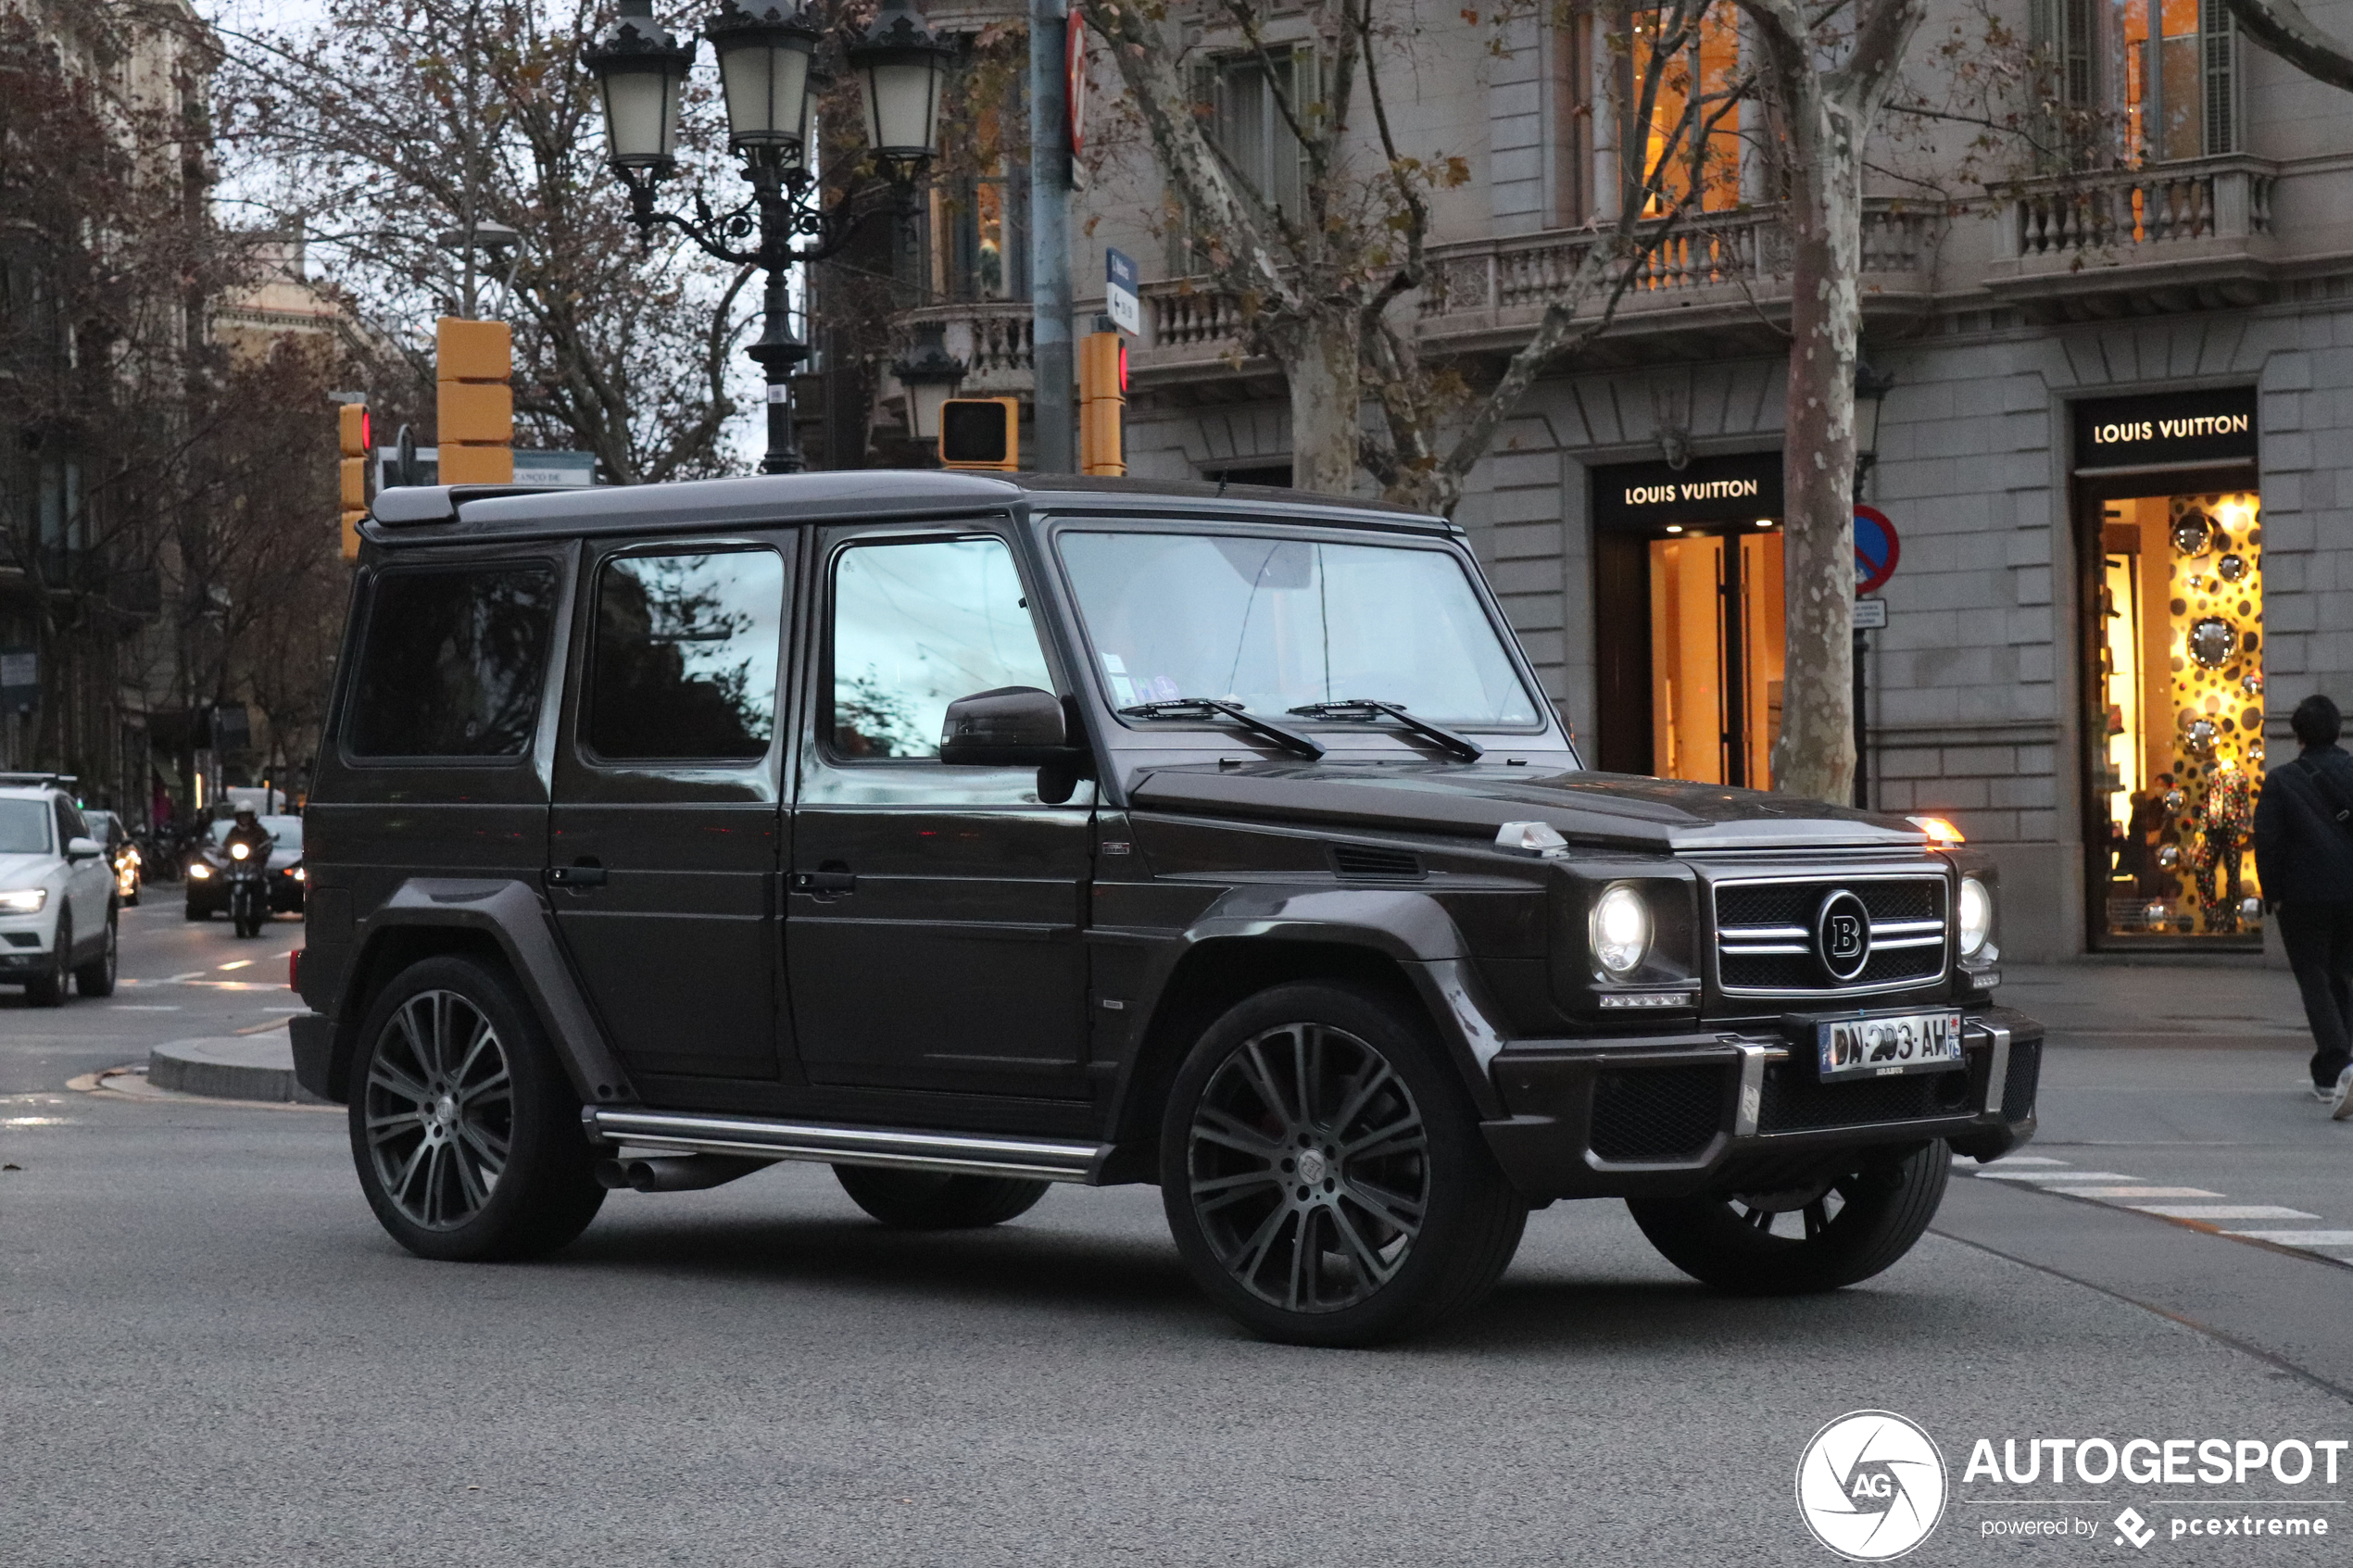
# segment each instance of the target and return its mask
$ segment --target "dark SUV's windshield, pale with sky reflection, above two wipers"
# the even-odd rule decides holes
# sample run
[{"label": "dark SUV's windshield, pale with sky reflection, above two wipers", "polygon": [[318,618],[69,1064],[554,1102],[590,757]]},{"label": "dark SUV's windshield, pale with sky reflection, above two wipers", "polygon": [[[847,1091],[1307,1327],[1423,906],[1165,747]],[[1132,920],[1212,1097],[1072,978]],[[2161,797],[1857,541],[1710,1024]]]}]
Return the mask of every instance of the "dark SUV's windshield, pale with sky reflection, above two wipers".
[{"label": "dark SUV's windshield, pale with sky reflection, above two wipers", "polygon": [[1061,559],[1118,708],[1184,696],[1285,712],[1360,698],[1438,724],[1537,724],[1447,550],[1071,531]]}]

